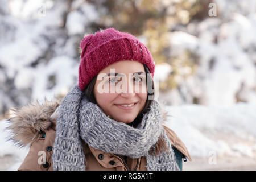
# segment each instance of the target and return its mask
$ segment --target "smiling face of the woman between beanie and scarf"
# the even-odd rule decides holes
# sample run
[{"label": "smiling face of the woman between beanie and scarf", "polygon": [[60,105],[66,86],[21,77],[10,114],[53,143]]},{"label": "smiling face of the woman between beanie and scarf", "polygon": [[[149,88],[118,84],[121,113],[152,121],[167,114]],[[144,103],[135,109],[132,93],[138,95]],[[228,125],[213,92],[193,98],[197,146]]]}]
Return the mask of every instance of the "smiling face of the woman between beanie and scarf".
[{"label": "smiling face of the woman between beanie and scarf", "polygon": [[93,92],[97,104],[110,118],[133,122],[147,100],[143,64],[125,60],[109,65],[98,73]]}]

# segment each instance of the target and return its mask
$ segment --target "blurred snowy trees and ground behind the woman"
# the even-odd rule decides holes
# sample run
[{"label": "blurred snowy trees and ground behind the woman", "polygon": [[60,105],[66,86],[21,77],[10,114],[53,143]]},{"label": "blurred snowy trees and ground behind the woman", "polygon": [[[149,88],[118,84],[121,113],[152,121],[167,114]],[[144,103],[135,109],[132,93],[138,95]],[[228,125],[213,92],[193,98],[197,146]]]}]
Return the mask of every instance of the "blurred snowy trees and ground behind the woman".
[{"label": "blurred snowy trees and ground behind the woman", "polygon": [[150,49],[166,125],[192,155],[184,170],[256,169],[255,0],[1,0],[0,170],[28,152],[6,142],[10,109],[63,98],[80,41],[108,27]]}]

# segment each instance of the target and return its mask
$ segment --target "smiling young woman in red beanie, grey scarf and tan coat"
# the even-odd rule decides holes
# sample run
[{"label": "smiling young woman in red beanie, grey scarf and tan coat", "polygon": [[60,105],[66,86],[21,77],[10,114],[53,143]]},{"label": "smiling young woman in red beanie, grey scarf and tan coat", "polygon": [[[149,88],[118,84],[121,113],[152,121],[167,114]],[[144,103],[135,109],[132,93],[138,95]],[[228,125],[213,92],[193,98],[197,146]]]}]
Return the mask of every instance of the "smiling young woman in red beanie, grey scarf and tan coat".
[{"label": "smiling young woman in red beanie, grey scarf and tan coat", "polygon": [[61,103],[31,104],[10,119],[30,145],[19,170],[180,170],[187,148],[163,126],[154,61],[133,35],[108,28],[81,41],[79,84]]}]

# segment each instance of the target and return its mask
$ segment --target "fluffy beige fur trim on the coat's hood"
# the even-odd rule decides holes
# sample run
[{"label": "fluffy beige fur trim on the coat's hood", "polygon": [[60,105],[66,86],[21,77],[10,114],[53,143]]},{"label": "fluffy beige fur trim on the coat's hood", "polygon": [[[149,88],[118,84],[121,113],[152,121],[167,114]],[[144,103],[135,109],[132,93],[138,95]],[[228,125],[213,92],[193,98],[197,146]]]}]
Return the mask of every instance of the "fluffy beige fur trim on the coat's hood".
[{"label": "fluffy beige fur trim on the coat's hood", "polygon": [[[41,138],[49,127],[55,127],[57,107],[60,103],[60,100],[44,100],[43,104],[36,101],[11,109],[13,117],[8,119],[7,127],[10,130],[9,140],[19,147],[24,147]],[[163,111],[163,121],[167,120],[168,115],[168,112]]]}]

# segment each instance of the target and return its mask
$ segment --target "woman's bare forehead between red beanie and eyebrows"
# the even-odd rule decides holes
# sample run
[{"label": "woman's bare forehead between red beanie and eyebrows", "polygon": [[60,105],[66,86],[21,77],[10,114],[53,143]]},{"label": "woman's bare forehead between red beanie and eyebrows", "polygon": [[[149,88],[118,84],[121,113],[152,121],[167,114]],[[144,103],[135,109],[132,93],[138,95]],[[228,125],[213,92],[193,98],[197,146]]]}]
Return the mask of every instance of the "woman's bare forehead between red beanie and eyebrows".
[{"label": "woman's bare forehead between red beanie and eyebrows", "polygon": [[108,65],[108,67],[102,69],[100,73],[109,73],[110,69],[115,69],[116,73],[135,73],[145,72],[143,64],[138,61],[123,60]]}]

